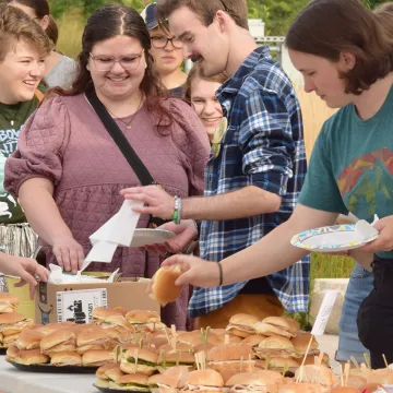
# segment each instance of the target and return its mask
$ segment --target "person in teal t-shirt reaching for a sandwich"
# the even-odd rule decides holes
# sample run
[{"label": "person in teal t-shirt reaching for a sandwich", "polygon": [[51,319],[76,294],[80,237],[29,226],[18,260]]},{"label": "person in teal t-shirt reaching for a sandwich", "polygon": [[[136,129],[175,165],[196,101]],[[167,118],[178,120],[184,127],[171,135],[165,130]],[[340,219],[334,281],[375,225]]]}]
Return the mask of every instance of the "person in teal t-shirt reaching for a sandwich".
[{"label": "person in teal t-shirt reaching for a sandwich", "polygon": [[218,265],[180,254],[164,265],[181,264],[178,285],[213,287],[265,276],[307,254],[290,245],[293,236],[334,225],[340,214],[369,223],[377,214],[380,235],[359,249],[374,253],[374,289],[357,323],[372,367],[381,368],[382,354],[393,362],[393,39],[358,0],[314,0],[293,23],[286,45],[305,91],[341,108],[319,134],[295,212]]}]

